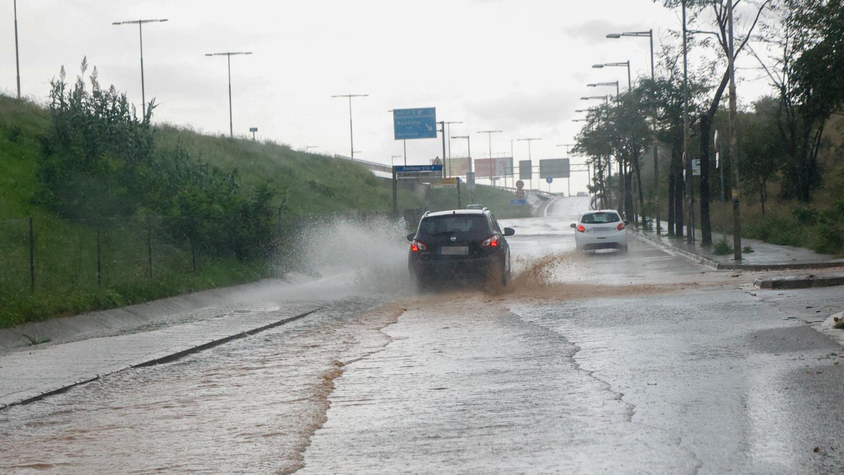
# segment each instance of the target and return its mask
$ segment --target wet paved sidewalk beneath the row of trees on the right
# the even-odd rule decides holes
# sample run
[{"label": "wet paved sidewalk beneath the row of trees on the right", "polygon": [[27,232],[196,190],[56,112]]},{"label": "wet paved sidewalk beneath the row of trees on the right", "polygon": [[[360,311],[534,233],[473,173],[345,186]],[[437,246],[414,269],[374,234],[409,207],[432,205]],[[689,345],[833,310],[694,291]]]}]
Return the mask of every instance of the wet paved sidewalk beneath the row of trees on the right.
[{"label": "wet paved sidewalk beneath the row of trees on the right", "polygon": [[[753,252],[742,252],[742,261],[735,262],[732,253],[726,256],[718,256],[712,253],[711,247],[701,246],[700,231],[695,233],[697,238],[695,244],[690,245],[686,242],[686,236],[681,238],[668,237],[668,230],[664,228],[662,235],[657,235],[654,231],[630,230],[642,240],[663,246],[716,269],[762,271],[844,267],[844,259],[818,254],[803,247],[778,246],[755,239],[742,239],[742,246],[750,246]],[[688,228],[686,230],[688,232]],[[721,233],[713,232],[712,242],[722,240],[723,237],[724,235]],[[726,235],[726,237],[727,242],[732,247],[733,235]]]}]

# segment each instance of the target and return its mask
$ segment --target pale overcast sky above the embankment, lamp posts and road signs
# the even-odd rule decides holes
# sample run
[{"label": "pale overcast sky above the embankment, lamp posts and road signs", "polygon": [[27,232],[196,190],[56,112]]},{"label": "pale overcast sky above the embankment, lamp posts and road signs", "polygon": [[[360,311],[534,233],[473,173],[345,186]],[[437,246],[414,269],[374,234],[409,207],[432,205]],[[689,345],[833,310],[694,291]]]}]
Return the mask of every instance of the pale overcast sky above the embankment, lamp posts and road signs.
[{"label": "pale overcast sky above the embankment, lamp posts and road signs", "polygon": [[[232,57],[235,134],[258,127],[261,139],[349,155],[349,103],[331,95],[370,94],[353,101],[355,156],[381,163],[403,154],[387,111],[411,107],[463,121],[451,135],[470,135],[475,159],[488,155],[486,135],[475,133],[487,129],[504,131],[492,136],[494,155],[509,155],[511,140],[542,138],[531,145],[534,163],[564,157],[556,145],[573,142],[571,120],[582,116],[574,111],[595,104],[580,97],[614,93],[586,84],[626,83],[624,67],[593,63],[630,59],[634,79],[650,74],[647,38],[604,35],[653,28],[659,48],[679,28],[676,13],[650,0],[19,0],[23,94],[45,100],[59,67],[74,78],[87,56],[100,83],[125,90],[139,109],[138,28],[111,22],[155,18],[169,19],[143,27],[155,121],[228,133],[225,57],[204,54],[252,51]],[[12,94],[12,0],[0,4],[0,21],[0,89]],[[513,151],[527,159],[526,142]],[[408,164],[441,154],[439,139],[408,141]],[[465,154],[466,141],[452,140],[452,155]],[[585,173],[573,175],[572,192],[585,186]],[[553,189],[565,191],[565,180]]]}]

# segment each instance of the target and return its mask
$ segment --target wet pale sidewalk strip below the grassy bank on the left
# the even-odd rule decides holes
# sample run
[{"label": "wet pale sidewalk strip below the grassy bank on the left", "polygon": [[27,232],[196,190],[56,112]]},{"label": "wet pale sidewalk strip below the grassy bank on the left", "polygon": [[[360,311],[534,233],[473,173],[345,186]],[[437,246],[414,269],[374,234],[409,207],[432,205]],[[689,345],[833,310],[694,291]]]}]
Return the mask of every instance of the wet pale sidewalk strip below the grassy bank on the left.
[{"label": "wet pale sidewalk strip below the grassy bank on the left", "polygon": [[[213,310],[213,309],[212,309]],[[319,310],[312,305],[227,310],[202,321],[0,354],[0,409],[33,402],[127,368],[160,364]]]}]

